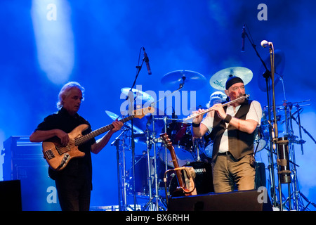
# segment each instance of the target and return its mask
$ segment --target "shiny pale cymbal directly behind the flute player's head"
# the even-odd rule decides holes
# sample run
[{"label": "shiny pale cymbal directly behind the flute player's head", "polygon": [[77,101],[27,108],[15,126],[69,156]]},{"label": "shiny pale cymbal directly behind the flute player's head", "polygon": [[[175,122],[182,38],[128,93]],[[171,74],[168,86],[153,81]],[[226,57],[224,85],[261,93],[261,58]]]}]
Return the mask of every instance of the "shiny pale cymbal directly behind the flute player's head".
[{"label": "shiny pale cymbal directly behind the flute player's head", "polygon": [[244,85],[246,85],[251,81],[253,73],[251,70],[243,67],[226,68],[216,72],[209,80],[209,84],[214,89],[225,90],[225,84],[230,77],[239,77],[243,80]]}]

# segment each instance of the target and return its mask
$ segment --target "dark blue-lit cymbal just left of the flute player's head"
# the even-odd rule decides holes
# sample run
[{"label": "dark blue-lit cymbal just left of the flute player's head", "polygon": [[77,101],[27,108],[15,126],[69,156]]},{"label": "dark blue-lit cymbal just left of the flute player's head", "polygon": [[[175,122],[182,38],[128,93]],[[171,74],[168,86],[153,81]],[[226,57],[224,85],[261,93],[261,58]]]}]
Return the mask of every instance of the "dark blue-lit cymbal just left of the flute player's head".
[{"label": "dark blue-lit cymbal just left of the flute player's head", "polygon": [[197,90],[206,85],[206,77],[190,70],[176,70],[164,75],[161,82],[171,90],[178,89],[183,83],[183,89]]}]

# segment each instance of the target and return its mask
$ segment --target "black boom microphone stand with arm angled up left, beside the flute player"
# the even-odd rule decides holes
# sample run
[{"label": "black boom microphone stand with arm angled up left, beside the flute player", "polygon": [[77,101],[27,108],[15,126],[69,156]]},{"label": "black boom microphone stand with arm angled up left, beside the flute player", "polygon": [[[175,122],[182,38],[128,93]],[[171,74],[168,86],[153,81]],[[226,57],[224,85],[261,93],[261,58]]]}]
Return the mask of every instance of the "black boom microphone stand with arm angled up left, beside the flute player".
[{"label": "black boom microphone stand with arm angled up left, beside the flute player", "polygon": [[[247,27],[247,30],[248,29],[248,26]],[[249,35],[248,33],[244,32],[244,34],[246,35],[247,39],[249,40],[251,46],[254,48],[254,51],[256,52],[256,55],[258,56],[258,58],[261,60],[261,63],[263,64],[264,68],[265,68],[265,72],[263,73],[263,77],[265,78],[265,82],[266,82],[266,88],[267,88],[267,101],[268,101],[268,122],[270,124],[270,121],[271,121],[271,106],[270,106],[270,94],[269,94],[269,77],[271,76],[271,73],[270,71],[268,70],[267,68],[267,65],[265,65],[265,61],[261,58],[260,54],[258,53],[257,49],[256,49],[256,44],[254,44],[254,41],[252,40],[252,37],[249,38]],[[251,34],[250,34],[251,36]],[[272,66],[272,64],[271,64]],[[273,83],[274,84],[274,83]],[[274,92],[274,91],[273,91]],[[270,124],[269,126],[269,135],[270,135],[270,140],[272,140],[272,125]],[[269,162],[269,171],[270,171],[270,177],[271,177],[271,188],[270,188],[270,192],[271,192],[271,198],[272,198],[272,206],[273,207],[277,207],[277,194],[275,192],[275,174],[274,174],[274,160],[273,160],[273,143],[272,141],[270,141],[270,162]]]}]

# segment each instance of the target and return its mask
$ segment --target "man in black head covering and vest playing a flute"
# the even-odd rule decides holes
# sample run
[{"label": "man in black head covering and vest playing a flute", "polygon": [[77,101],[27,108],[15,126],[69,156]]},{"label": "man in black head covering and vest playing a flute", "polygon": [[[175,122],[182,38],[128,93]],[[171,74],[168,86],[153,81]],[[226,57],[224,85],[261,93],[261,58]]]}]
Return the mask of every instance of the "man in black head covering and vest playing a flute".
[{"label": "man in black head covering and vest playing a flute", "polygon": [[[244,96],[244,82],[230,77],[225,84],[229,101]],[[215,104],[203,119],[195,117],[192,131],[195,138],[209,131],[213,141],[212,169],[216,193],[253,190],[255,188],[254,139],[261,124],[262,109],[258,101],[242,99],[223,107]],[[196,113],[204,110],[199,109]]]}]

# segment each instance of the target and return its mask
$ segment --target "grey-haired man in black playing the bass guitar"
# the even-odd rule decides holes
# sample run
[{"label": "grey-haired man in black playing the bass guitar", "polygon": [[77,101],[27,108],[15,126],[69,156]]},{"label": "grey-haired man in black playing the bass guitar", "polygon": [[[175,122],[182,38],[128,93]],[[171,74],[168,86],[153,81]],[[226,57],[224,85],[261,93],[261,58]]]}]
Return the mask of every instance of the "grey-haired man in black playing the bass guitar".
[{"label": "grey-haired man in black playing the bass guitar", "polygon": [[[88,128],[82,131],[82,135],[92,131],[88,121],[77,113],[81,101],[84,100],[84,87],[77,82],[68,82],[60,90],[58,98],[58,113],[48,115],[31,134],[30,141],[58,139],[61,146],[67,146],[70,141],[69,133],[79,125],[88,125]],[[67,167],[60,171],[49,167],[48,174],[55,180],[62,211],[89,210],[92,190],[91,152],[98,154],[107,145],[112,134],[121,129],[123,123],[114,121],[112,126],[113,128],[101,139],[90,139],[78,147],[84,153],[84,157],[70,160]]]}]

